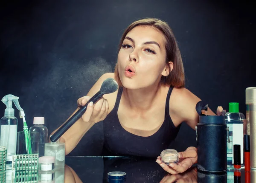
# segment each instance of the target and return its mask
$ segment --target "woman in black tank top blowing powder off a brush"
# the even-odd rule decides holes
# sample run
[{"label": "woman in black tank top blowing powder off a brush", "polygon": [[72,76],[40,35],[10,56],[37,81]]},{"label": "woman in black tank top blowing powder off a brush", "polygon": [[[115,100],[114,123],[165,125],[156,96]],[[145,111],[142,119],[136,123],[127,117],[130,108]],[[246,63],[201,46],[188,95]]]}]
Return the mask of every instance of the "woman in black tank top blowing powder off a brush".
[{"label": "woman in black tank top blowing powder off a brush", "polygon": [[[90,103],[86,113],[60,139],[66,155],[93,124],[104,120],[104,147],[117,155],[157,157],[175,139],[184,121],[192,129],[198,123],[195,106],[200,99],[184,88],[183,63],[169,25],[157,19],[138,20],[125,30],[115,73],[102,75],[78,105],[87,103],[102,82],[114,78],[119,89]],[[75,111],[76,112],[76,111]],[[75,113],[74,112],[74,113]],[[214,115],[208,110],[209,115]],[[157,163],[171,174],[186,171],[197,160],[197,150],[179,153],[181,161]]]}]

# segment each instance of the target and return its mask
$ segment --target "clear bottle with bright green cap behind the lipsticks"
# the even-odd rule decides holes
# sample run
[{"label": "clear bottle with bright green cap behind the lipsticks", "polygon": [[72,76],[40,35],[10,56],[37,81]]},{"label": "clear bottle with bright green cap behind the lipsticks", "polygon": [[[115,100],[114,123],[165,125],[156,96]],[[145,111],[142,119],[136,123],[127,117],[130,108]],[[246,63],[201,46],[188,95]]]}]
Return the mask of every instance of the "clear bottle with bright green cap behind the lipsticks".
[{"label": "clear bottle with bright green cap behind the lipsticks", "polygon": [[227,166],[233,166],[233,145],[241,146],[241,165],[244,164],[244,120],[243,113],[239,113],[239,103],[229,103],[229,113],[225,115],[227,127],[229,127],[230,142],[227,141]]}]

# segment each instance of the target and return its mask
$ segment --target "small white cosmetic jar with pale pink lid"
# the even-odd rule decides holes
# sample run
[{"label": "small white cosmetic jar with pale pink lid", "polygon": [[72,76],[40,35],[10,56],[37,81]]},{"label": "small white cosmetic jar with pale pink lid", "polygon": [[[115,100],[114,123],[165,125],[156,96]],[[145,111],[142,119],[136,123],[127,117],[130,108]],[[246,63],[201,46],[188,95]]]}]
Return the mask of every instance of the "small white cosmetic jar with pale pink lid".
[{"label": "small white cosmetic jar with pale pink lid", "polygon": [[39,171],[51,171],[55,169],[55,157],[54,156],[42,156],[38,158],[38,170]]}]

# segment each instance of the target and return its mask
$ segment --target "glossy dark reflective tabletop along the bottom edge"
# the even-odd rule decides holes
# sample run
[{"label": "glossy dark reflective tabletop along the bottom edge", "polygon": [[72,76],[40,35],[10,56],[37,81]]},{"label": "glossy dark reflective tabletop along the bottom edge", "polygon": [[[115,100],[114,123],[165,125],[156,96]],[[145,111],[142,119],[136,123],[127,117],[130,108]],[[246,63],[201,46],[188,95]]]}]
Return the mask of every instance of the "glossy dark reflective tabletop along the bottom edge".
[{"label": "glossy dark reflective tabletop along the bottom edge", "polygon": [[[65,167],[54,172],[31,174],[21,181],[17,172],[8,170],[0,174],[1,183],[256,183],[256,171],[244,172],[229,168],[222,175],[198,172],[193,166],[184,173],[170,175],[164,171],[156,159],[102,157],[102,156],[66,156]],[[125,172],[126,180],[108,179],[109,172]],[[16,178],[15,178],[16,176]],[[33,177],[34,176],[34,177]],[[5,177],[5,181],[3,180]]]}]

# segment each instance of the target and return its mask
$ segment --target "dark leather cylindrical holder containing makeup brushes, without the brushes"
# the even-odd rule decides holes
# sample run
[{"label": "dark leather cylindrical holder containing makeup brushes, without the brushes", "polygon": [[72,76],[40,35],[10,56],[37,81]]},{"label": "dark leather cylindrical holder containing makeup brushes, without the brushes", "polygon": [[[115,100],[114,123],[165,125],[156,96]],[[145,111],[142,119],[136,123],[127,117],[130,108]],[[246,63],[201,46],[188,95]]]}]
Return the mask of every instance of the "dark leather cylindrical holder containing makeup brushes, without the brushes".
[{"label": "dark leather cylindrical holder containing makeup brushes, without the brushes", "polygon": [[224,116],[200,115],[196,126],[198,165],[202,172],[227,171],[227,134]]}]

